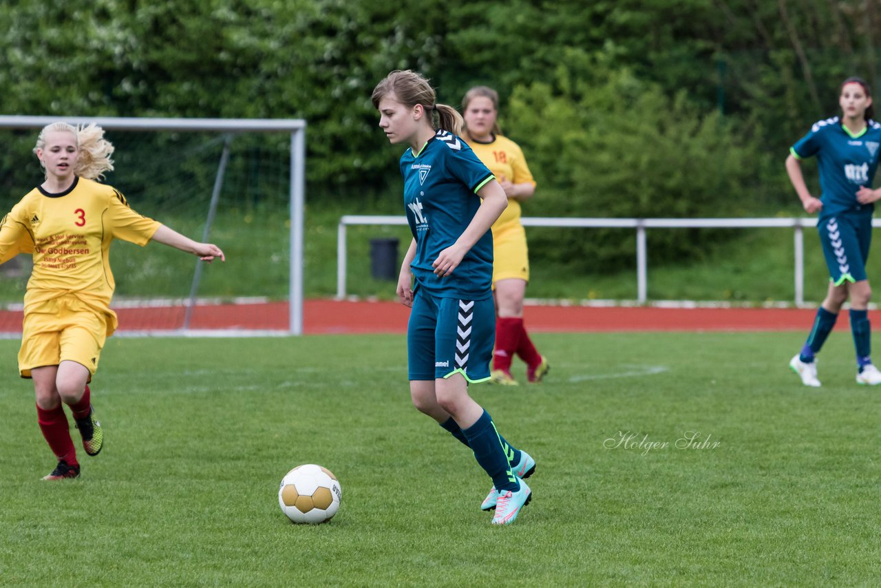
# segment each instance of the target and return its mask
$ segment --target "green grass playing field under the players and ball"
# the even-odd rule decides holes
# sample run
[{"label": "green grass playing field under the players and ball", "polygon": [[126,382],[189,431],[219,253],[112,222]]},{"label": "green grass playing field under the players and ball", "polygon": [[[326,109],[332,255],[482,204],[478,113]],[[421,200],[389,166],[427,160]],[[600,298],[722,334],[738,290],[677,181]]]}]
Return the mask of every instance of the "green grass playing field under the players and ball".
[{"label": "green grass playing field under the players and ball", "polygon": [[[879,392],[849,336],[818,390],[786,367],[803,333],[535,339],[547,382],[471,389],[537,458],[504,528],[470,452],[411,407],[402,336],[110,339],[105,449],[60,483],[0,341],[0,584],[877,585]],[[278,508],[302,463],[341,481],[327,525]]]}]

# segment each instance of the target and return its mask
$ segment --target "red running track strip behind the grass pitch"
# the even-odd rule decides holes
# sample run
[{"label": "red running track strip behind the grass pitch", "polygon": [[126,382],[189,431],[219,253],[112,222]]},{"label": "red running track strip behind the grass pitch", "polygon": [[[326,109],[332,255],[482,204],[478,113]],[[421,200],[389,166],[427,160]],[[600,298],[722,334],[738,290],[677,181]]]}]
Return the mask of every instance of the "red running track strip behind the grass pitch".
[{"label": "red running track strip behind the grass pitch", "polygon": [[[120,333],[175,331],[183,324],[182,307],[116,309]],[[870,316],[875,311],[870,313]],[[527,306],[533,332],[594,331],[809,331],[813,309],[667,309],[655,307]],[[843,313],[847,314],[847,313]],[[390,301],[309,300],[304,331],[321,333],[403,333],[410,309]],[[22,313],[0,311],[0,332],[21,332]],[[285,331],[285,302],[198,306],[190,329]],[[836,329],[848,329],[847,319]]]}]

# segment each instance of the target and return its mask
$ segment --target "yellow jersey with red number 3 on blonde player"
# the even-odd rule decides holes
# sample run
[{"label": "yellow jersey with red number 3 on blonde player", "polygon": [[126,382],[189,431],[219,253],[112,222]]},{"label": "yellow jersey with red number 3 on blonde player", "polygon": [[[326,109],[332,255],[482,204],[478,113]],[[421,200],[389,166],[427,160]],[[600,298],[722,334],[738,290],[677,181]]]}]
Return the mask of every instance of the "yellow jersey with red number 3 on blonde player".
[{"label": "yellow jersey with red number 3 on blonde player", "polygon": [[110,309],[115,281],[110,242],[142,247],[159,222],[131,210],[119,190],[75,177],[68,190],[52,194],[34,188],[0,221],[0,264],[19,253],[33,254],[25,314],[41,312],[59,296],[73,294],[107,316],[107,335],[117,326]]}]

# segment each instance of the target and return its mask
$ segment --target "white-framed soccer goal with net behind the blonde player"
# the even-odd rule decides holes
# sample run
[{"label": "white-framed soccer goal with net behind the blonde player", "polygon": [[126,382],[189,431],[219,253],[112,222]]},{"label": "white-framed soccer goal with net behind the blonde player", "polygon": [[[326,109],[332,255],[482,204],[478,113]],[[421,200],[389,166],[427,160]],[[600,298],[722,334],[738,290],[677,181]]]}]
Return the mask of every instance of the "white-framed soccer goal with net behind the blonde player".
[{"label": "white-framed soccer goal with net behind the blonde player", "polygon": [[[202,219],[204,220],[207,217],[207,220],[204,220],[204,231],[200,233],[190,233],[188,232],[188,236],[194,239],[204,239],[208,237],[211,232],[211,224],[213,222],[215,213],[218,210],[218,197],[220,191],[224,190],[235,190],[235,187],[229,188],[224,186],[224,177],[226,175],[226,167],[227,161],[229,160],[229,149],[230,149],[230,141],[232,138],[238,137],[248,137],[250,138],[249,145],[258,145],[257,147],[250,146],[248,149],[251,151],[259,151],[260,139],[256,139],[256,135],[261,134],[271,134],[270,136],[275,138],[275,142],[273,145],[280,145],[276,151],[285,151],[288,155],[285,157],[285,161],[276,161],[273,160],[273,167],[270,171],[270,175],[276,176],[278,179],[278,175],[282,174],[285,171],[285,167],[289,167],[289,172],[287,177],[284,178],[285,182],[275,182],[275,180],[271,183],[269,190],[272,190],[274,193],[272,194],[272,198],[278,198],[274,200],[276,206],[279,202],[282,202],[282,199],[285,197],[285,194],[278,194],[280,190],[286,190],[286,200],[287,200],[287,215],[289,223],[289,229],[287,230],[287,238],[288,238],[288,250],[287,255],[279,255],[278,252],[274,250],[270,250],[266,252],[267,255],[272,257],[272,262],[276,263],[282,257],[288,257],[288,267],[287,267],[287,284],[286,284],[286,294],[284,296],[286,298],[286,307],[287,307],[287,321],[286,324],[274,324],[267,328],[265,325],[257,326],[255,328],[248,328],[247,321],[242,321],[241,324],[236,324],[233,329],[229,330],[229,334],[248,334],[248,335],[259,335],[259,334],[279,334],[279,333],[287,333],[292,335],[301,335],[303,333],[303,242],[304,242],[304,213],[305,213],[305,171],[306,171],[306,127],[307,123],[305,120],[301,119],[211,119],[211,118],[142,118],[142,117],[112,117],[112,116],[32,116],[32,115],[0,115],[0,130],[4,130],[5,132],[18,133],[19,135],[22,131],[31,130],[37,131],[42,127],[50,124],[56,123],[58,121],[63,121],[66,123],[70,123],[73,125],[85,125],[89,123],[95,123],[99,125],[104,130],[107,130],[108,138],[111,139],[112,142],[117,146],[117,151],[115,153],[114,159],[116,160],[117,169],[112,174],[118,173],[120,174],[119,181],[109,181],[108,183],[113,183],[116,188],[122,191],[122,193],[127,193],[127,185],[126,185],[126,175],[130,174],[130,169],[134,167],[138,167],[139,164],[142,163],[143,160],[138,159],[135,162],[135,165],[132,166],[122,166],[120,163],[120,159],[117,157],[121,153],[121,149],[124,150],[125,147],[119,145],[117,143],[117,138],[120,138],[122,134],[125,132],[136,132],[136,133],[146,133],[151,134],[155,133],[157,138],[152,139],[152,144],[159,145],[160,149],[165,149],[167,145],[171,145],[175,143],[175,138],[179,138],[184,134],[195,136],[198,133],[203,133],[208,137],[216,136],[211,141],[204,142],[204,144],[196,145],[195,143],[189,144],[186,141],[183,141],[185,145],[182,145],[181,148],[184,149],[187,156],[190,156],[194,153],[198,153],[199,157],[202,159],[199,160],[196,164],[193,163],[185,163],[185,166],[189,166],[187,168],[187,172],[190,176],[192,175],[200,175],[198,180],[198,186],[194,187],[191,184],[187,184],[181,186],[180,188],[175,188],[174,185],[170,188],[166,188],[165,190],[172,194],[171,198],[167,198],[159,203],[153,203],[153,205],[157,206],[159,210],[155,212],[154,215],[148,214],[148,216],[156,216],[157,220],[160,222],[163,221],[162,213],[163,213],[163,205],[177,205],[177,201],[174,200],[175,194],[178,196],[179,200],[184,200],[189,196],[189,192],[196,190],[200,192],[209,192],[210,193],[210,204],[206,205],[206,209],[202,210],[201,213],[204,214]],[[255,135],[256,134],[256,135]],[[158,138],[161,135],[162,138]],[[289,140],[285,140],[283,143],[278,141],[278,138],[289,136]],[[16,138],[13,135],[13,138]],[[16,151],[20,151],[23,153],[16,153],[14,156],[7,154],[4,159],[4,166],[8,167],[20,167],[21,161],[24,157],[29,158],[30,162],[35,161],[33,157],[33,153],[30,153],[30,147],[33,147],[33,143],[36,139],[36,133],[28,133],[28,137],[17,137],[19,143],[21,145],[28,145],[27,149],[19,148]],[[223,143],[223,154],[219,157],[219,163],[207,163],[209,160],[217,161],[211,158],[211,154],[208,152],[215,148],[219,143]],[[208,145],[208,146],[205,146]],[[9,148],[7,146],[7,148]],[[150,153],[151,146],[148,145],[144,148],[145,153]],[[156,149],[154,148],[155,152]],[[26,153],[24,153],[26,152]],[[262,152],[261,152],[262,153]],[[141,157],[141,156],[139,156]],[[169,156],[169,160],[174,160],[174,157],[179,157],[182,159],[182,156],[175,156],[171,154]],[[259,158],[260,153],[258,153],[255,157]],[[12,159],[11,159],[12,158]],[[280,158],[277,158],[280,159]],[[33,163],[33,165],[36,165]],[[159,171],[153,171],[152,175],[143,172],[143,170],[137,170],[141,172],[144,176],[146,176],[149,180],[152,181],[153,176],[162,176],[166,175],[166,167],[169,164],[159,161],[156,165],[156,169]],[[260,167],[259,162],[248,162],[243,163],[241,166],[241,174],[248,175],[248,182],[263,182],[263,175],[267,175],[265,170]],[[211,169],[213,167],[213,169]],[[33,179],[33,173],[29,175],[29,178]],[[171,175],[170,173],[168,175]],[[206,175],[211,175],[211,180],[213,182],[209,182],[208,178],[204,177]],[[251,177],[253,176],[253,177]],[[4,178],[5,180],[5,178]],[[174,180],[171,180],[172,182]],[[17,190],[21,190],[19,188],[19,184],[21,182],[12,182],[12,181],[4,181],[4,184],[9,187],[10,184],[15,186]],[[283,184],[287,185],[284,186]],[[212,189],[205,190],[206,186],[211,184],[213,186]],[[27,187],[27,190],[33,188],[33,182]],[[7,204],[10,201],[4,200],[4,211],[0,212],[0,214],[5,214],[8,212],[8,209],[11,208],[11,205],[14,205],[18,199],[26,193],[27,190],[20,191],[14,196],[14,199],[11,200],[11,204]],[[189,191],[188,191],[189,190]],[[264,190],[265,191],[265,190]],[[13,198],[13,196],[7,194],[2,197]],[[207,196],[205,196],[207,198]],[[131,198],[130,198],[131,199]],[[266,200],[265,196],[263,196],[263,200]],[[260,202],[261,197],[257,197],[257,204],[263,205]],[[171,203],[171,204],[169,204]],[[132,206],[138,210],[138,212],[142,212],[140,210],[140,203],[133,202]],[[196,216],[198,212],[194,209],[189,209],[186,212],[182,212],[181,216],[184,218],[189,218]],[[260,208],[257,214],[263,214],[268,219],[272,219],[278,222],[275,219],[275,213],[277,211],[273,208],[270,212],[266,212],[263,208]],[[257,219],[257,225],[261,223],[263,219]],[[251,220],[248,220],[251,222]],[[259,227],[255,228],[255,232],[250,234],[250,237],[254,237],[256,242],[253,243],[254,251],[259,251],[261,249],[272,249],[272,247],[268,244],[265,248],[261,248],[261,243],[259,242]],[[254,236],[256,235],[256,236]],[[250,238],[246,237],[246,238]],[[212,240],[218,242],[221,247],[227,246],[227,243],[221,241],[218,237],[211,237]],[[276,243],[273,242],[272,246]],[[238,249],[241,248],[241,243],[237,244]],[[149,256],[150,254],[146,254]],[[278,259],[277,259],[278,257]],[[146,262],[144,262],[146,263]],[[2,269],[2,267],[0,267]],[[122,268],[116,268],[114,266],[115,273],[117,274],[117,278],[120,275]],[[254,268],[254,272],[261,272],[259,268]],[[183,311],[180,313],[181,320],[179,320],[176,324],[176,327],[172,327],[169,329],[167,326],[159,327],[158,331],[166,331],[169,334],[174,334],[175,332],[180,332],[181,334],[189,334],[189,331],[199,331],[199,327],[195,329],[190,329],[189,320],[190,316],[192,316],[193,309],[196,307],[196,292],[199,287],[199,279],[201,276],[201,268],[196,270],[193,274],[192,282],[189,288],[186,288],[187,292],[183,294],[159,294],[153,293],[152,296],[156,297],[167,297],[169,299],[174,299],[176,304],[179,304],[183,307]],[[173,282],[180,282],[181,276],[175,276],[170,279]],[[247,278],[242,278],[240,281],[248,281]],[[117,279],[119,282],[119,279]],[[117,284],[118,285],[118,284]],[[179,283],[175,284],[176,287],[180,287]],[[118,291],[119,288],[117,288]],[[179,288],[178,288],[179,289]],[[263,296],[260,296],[260,293],[248,293],[247,295],[236,296],[236,293],[233,292],[235,288],[227,287],[226,290],[224,288],[218,288],[219,294],[213,295],[212,300],[244,300],[246,302],[254,302],[257,299],[263,299]],[[189,293],[189,295],[187,294]],[[265,297],[267,301],[271,301],[271,296]],[[20,300],[20,299],[19,299]],[[134,302],[137,304],[137,301]],[[149,304],[145,304],[144,306],[149,306]],[[247,306],[247,304],[245,305]],[[114,305],[115,308],[116,305]],[[271,305],[271,310],[267,310],[268,312],[273,312],[276,315],[279,314],[279,309],[282,308],[282,305],[278,303],[273,303]],[[222,310],[220,312],[223,312]],[[122,322],[122,321],[121,321]],[[20,325],[20,323],[19,323]],[[140,326],[140,325],[139,325]],[[215,327],[209,327],[212,329],[216,329]],[[222,329],[222,327],[219,327]],[[125,324],[121,324],[121,329],[125,329]],[[146,324],[143,329],[139,329],[136,327],[133,331],[144,331],[149,334],[159,334],[152,332],[150,324]],[[184,332],[188,331],[188,332]]]}]

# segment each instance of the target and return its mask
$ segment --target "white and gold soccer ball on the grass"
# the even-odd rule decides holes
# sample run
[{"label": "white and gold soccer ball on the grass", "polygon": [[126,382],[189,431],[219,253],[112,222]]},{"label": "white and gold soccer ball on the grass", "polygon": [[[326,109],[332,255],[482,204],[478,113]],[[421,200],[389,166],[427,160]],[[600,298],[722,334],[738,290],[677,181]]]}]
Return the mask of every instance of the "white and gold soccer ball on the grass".
[{"label": "white and gold soccer ball on the grass", "polygon": [[343,488],[337,476],[321,465],[298,465],[281,479],[278,506],[294,523],[329,521],[339,510]]}]

